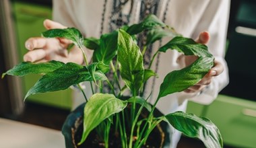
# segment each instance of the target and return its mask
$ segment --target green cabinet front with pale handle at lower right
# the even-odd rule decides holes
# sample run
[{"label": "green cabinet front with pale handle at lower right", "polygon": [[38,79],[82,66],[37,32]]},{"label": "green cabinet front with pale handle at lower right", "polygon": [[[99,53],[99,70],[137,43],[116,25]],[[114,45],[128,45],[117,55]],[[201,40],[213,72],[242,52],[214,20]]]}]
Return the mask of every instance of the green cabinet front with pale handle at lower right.
[{"label": "green cabinet front with pale handle at lower right", "polygon": [[209,106],[189,102],[187,112],[212,120],[220,129],[226,145],[256,145],[256,102],[219,95]]}]

